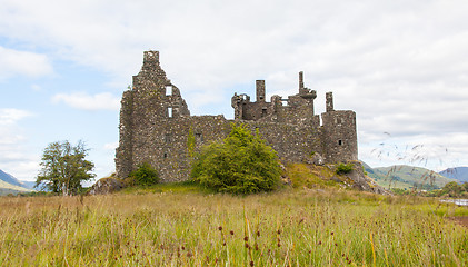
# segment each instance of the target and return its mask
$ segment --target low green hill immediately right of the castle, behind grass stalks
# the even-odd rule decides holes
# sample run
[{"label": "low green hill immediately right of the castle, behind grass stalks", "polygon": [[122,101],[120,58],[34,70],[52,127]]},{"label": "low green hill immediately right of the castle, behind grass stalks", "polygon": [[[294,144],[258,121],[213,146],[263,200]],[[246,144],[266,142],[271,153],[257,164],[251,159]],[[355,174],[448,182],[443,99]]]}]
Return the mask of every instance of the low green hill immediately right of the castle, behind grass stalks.
[{"label": "low green hill immediately right of the castle, behind grass stalks", "polygon": [[452,178],[441,176],[432,170],[412,167],[407,165],[396,165],[390,167],[371,168],[364,164],[369,177],[385,188],[411,189],[415,186],[419,189],[438,189],[447,182],[456,181]]}]

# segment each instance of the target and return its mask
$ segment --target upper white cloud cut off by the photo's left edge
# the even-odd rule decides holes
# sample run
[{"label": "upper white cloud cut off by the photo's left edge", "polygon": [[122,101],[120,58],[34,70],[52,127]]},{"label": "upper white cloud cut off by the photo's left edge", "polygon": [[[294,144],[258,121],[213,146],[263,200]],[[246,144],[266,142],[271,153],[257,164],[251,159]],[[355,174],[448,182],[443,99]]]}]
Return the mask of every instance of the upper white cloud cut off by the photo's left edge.
[{"label": "upper white cloud cut off by the photo's left edge", "polygon": [[19,51],[0,46],[0,79],[14,75],[40,77],[53,72],[46,55]]}]

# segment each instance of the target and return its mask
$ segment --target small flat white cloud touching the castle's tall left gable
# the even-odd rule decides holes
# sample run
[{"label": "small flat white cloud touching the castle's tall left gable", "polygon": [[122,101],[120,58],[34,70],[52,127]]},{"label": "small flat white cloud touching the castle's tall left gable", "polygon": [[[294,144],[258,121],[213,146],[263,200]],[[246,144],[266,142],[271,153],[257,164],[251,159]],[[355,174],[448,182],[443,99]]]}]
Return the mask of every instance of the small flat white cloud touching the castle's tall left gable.
[{"label": "small flat white cloud touching the castle's tall left gable", "polygon": [[58,93],[52,97],[52,101],[64,102],[68,106],[83,110],[119,110],[120,98],[110,92],[90,96],[84,92]]}]

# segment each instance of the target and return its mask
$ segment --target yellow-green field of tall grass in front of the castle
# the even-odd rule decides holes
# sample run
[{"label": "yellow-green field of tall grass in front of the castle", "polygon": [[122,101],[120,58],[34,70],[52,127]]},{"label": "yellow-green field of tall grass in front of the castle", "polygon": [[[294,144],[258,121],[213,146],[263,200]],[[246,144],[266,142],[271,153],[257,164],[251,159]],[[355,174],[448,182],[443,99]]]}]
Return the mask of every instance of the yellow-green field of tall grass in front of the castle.
[{"label": "yellow-green field of tall grass in front of the castle", "polygon": [[468,208],[350,190],[163,185],[0,198],[0,266],[468,266]]}]

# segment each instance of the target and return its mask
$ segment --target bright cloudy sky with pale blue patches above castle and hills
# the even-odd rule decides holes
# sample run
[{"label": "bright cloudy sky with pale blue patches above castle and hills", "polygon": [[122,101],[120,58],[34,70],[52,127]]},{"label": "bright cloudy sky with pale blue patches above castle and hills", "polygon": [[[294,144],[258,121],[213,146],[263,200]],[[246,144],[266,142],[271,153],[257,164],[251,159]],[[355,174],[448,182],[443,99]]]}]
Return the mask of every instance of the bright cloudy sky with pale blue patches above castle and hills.
[{"label": "bright cloudy sky with pale blue patches above castle and hills", "polygon": [[355,110],[372,167],[468,166],[466,0],[0,0],[0,169],[36,180],[43,149],[86,142],[114,170],[120,99],[146,50],[192,115],[232,118],[235,92],[298,91]]}]

